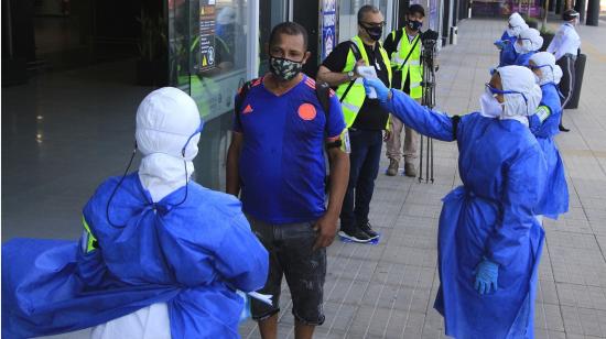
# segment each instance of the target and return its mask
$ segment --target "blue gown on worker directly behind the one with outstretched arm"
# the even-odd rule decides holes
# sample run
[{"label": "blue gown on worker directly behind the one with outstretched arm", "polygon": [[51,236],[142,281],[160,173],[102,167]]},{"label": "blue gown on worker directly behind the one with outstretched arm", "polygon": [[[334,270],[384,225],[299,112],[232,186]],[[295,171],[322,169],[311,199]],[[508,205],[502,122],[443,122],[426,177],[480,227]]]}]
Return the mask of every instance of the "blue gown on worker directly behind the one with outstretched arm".
[{"label": "blue gown on worker directly behind the one with outstretched arm", "polygon": [[553,140],[553,136],[560,133],[558,125],[562,116],[562,106],[555,84],[542,85],[541,91],[543,97],[540,107],[547,107],[550,116],[543,123],[537,114],[531,116],[529,119],[530,131],[537,136],[548,164],[545,189],[537,207],[537,212],[558,219],[558,215],[569,211],[569,186],[566,185],[564,163]]}]

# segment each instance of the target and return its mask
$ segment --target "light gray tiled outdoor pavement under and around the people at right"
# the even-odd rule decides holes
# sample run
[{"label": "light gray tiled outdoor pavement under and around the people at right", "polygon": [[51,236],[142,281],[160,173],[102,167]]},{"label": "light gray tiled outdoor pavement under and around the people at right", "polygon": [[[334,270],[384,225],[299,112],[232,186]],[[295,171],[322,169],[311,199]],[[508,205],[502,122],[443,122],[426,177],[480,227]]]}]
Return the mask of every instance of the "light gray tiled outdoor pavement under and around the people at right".
[{"label": "light gray tiled outdoor pavement under and around the people at right", "polygon": [[[458,45],[441,53],[437,108],[477,110],[498,63],[491,42],[505,21],[467,20]],[[556,28],[553,24],[553,28]],[[578,28],[587,54],[581,105],[566,110],[572,129],[556,142],[571,193],[570,212],[547,219],[537,298],[537,338],[606,338],[606,29]],[[441,198],[461,184],[454,143],[435,143],[435,183],[379,175],[371,222],[378,245],[336,241],[328,250],[326,322],[316,338],[443,338],[433,309],[439,285],[436,233]],[[382,168],[388,165],[382,161]],[[288,288],[281,299],[280,338],[294,338]],[[259,338],[253,322],[240,330]]]}]

